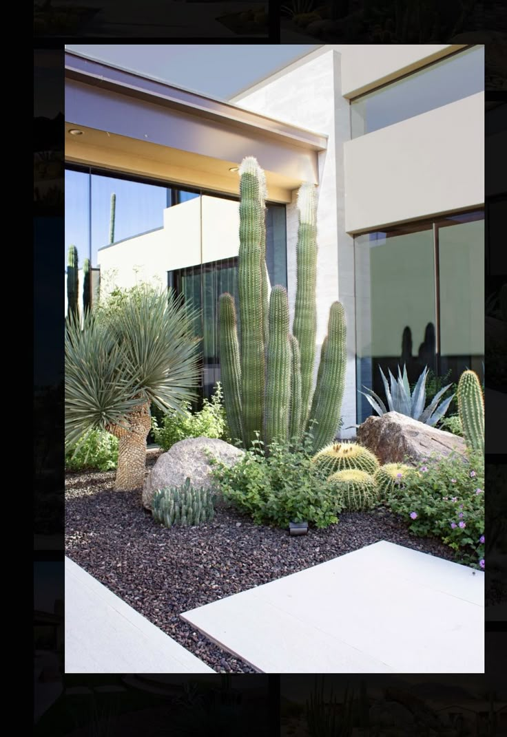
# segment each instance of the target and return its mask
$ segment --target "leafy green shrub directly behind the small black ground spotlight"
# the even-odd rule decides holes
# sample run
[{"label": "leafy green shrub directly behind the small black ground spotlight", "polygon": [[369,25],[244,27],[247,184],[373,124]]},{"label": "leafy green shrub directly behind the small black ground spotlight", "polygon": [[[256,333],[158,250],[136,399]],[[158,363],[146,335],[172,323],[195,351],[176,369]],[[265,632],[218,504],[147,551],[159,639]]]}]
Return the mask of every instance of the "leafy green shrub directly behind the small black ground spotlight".
[{"label": "leafy green shrub directly behind the small black ground spotlight", "polygon": [[215,486],[224,499],[249,514],[257,525],[287,527],[289,522],[337,523],[339,503],[323,472],[311,461],[313,436],[304,433],[295,446],[272,442],[269,456],[254,441],[231,468],[213,464]]}]

